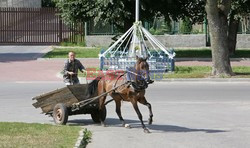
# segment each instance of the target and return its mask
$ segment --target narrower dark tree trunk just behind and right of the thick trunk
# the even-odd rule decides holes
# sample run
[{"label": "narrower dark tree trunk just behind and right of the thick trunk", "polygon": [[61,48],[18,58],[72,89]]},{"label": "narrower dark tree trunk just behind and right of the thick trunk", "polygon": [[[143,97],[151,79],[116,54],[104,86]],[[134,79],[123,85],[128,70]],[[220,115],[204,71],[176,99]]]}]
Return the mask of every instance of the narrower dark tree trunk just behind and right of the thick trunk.
[{"label": "narrower dark tree trunk just behind and right of the thick trunk", "polygon": [[228,43],[229,43],[228,46],[230,55],[235,54],[239,23],[240,23],[239,19],[234,19],[233,16],[230,17],[229,32],[228,32]]}]

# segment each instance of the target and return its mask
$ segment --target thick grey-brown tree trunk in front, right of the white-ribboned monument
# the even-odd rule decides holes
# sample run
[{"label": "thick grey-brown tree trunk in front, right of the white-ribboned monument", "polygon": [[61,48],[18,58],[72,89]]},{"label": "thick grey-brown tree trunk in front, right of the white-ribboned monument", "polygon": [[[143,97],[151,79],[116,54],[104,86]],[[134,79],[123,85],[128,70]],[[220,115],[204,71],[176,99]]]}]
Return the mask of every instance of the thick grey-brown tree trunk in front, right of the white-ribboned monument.
[{"label": "thick grey-brown tree trunk in front, right of the white-ribboned monument", "polygon": [[218,5],[217,0],[207,0],[206,12],[209,23],[212,48],[212,75],[232,76],[229,59],[228,44],[228,13],[231,0],[222,0]]}]

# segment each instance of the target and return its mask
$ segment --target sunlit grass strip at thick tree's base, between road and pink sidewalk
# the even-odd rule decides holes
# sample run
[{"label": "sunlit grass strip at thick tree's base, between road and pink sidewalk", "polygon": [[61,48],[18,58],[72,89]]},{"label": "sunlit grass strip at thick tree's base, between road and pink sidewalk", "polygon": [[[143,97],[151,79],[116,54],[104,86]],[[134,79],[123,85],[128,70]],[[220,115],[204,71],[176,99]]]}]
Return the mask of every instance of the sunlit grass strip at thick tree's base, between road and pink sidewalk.
[{"label": "sunlit grass strip at thick tree's base, between road and pink sidewalk", "polygon": [[[250,67],[232,67],[236,76],[232,78],[250,78]],[[212,68],[209,66],[176,66],[174,73],[168,73],[163,78],[207,78],[210,77]]]}]

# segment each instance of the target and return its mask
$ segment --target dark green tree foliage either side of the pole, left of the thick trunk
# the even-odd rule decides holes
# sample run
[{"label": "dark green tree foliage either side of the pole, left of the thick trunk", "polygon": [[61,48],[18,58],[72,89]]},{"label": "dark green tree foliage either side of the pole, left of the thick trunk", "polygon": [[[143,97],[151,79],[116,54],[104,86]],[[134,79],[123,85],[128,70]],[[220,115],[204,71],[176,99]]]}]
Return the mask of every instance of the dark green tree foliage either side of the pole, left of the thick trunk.
[{"label": "dark green tree foliage either side of the pole, left of the thick trunk", "polygon": [[[66,22],[86,22],[94,19],[103,24],[112,23],[120,31],[129,29],[135,21],[135,0],[54,0]],[[166,21],[184,18],[195,0],[140,0],[140,20],[151,22],[156,15]],[[195,10],[195,9],[192,9]],[[198,10],[198,9],[197,9]],[[197,11],[196,10],[196,11]],[[193,11],[193,18],[199,16]],[[202,18],[203,19],[203,18]]]}]

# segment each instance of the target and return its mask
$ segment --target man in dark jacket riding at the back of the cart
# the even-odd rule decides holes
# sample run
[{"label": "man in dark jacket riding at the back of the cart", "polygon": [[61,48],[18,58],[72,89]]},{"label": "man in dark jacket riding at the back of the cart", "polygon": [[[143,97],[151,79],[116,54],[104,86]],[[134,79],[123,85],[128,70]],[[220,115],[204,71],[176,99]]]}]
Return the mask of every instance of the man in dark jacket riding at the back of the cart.
[{"label": "man in dark jacket riding at the back of the cart", "polygon": [[69,52],[68,56],[69,59],[65,61],[64,69],[63,69],[63,79],[64,83],[66,85],[74,85],[74,84],[80,84],[79,79],[77,77],[78,75],[78,69],[83,73],[83,70],[85,71],[84,66],[82,63],[75,59],[75,52],[71,51]]}]

